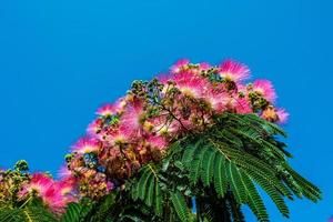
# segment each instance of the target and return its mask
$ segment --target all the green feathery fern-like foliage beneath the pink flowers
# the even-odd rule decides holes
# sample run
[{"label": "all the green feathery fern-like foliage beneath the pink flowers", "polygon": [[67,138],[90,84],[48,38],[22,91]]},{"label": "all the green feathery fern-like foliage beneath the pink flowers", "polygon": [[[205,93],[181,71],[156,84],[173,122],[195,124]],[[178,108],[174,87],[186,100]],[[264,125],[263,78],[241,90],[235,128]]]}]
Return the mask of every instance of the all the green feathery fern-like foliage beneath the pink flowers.
[{"label": "all the green feathery fern-like foliage beneath the pink flowers", "polygon": [[[117,188],[97,202],[70,204],[61,221],[243,222],[245,204],[265,222],[269,214],[256,186],[286,218],[285,199],[321,199],[321,191],[289,165],[291,154],[279,141],[286,134],[280,127],[254,114],[224,113],[215,122],[203,133],[175,141],[160,163],[145,164],[124,190]],[[1,210],[0,219],[11,219],[9,212]],[[24,214],[16,216],[27,221]]]}]

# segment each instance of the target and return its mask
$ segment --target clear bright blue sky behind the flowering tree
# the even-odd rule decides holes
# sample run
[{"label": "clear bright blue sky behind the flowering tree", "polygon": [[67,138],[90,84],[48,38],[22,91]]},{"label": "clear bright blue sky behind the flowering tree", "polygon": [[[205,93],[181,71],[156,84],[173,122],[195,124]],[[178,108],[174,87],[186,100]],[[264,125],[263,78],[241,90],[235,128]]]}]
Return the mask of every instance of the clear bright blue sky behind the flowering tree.
[{"label": "clear bright blue sky behind the flowering tree", "polygon": [[[103,102],[179,58],[245,62],[291,112],[292,165],[324,191],[291,222],[333,214],[331,0],[0,2],[0,164],[57,172]],[[273,222],[283,222],[269,204]],[[249,221],[254,219],[249,215]]]}]

